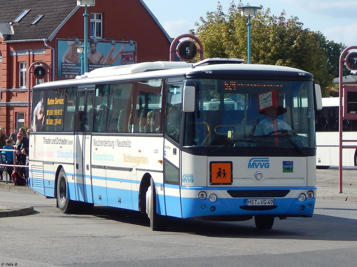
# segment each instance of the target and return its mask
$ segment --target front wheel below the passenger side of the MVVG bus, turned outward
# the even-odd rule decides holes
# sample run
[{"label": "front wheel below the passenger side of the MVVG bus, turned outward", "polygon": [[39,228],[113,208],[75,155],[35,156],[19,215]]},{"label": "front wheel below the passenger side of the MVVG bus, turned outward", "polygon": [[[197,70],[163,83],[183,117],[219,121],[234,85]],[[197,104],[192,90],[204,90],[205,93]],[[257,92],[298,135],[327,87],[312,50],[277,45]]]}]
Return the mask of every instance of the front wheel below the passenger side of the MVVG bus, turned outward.
[{"label": "front wheel below the passenger side of the MVVG bus, turned outward", "polygon": [[154,181],[151,179],[151,185],[146,192],[146,213],[150,219],[151,230],[163,231],[166,229],[166,218],[165,216],[157,214],[156,208],[156,189]]}]

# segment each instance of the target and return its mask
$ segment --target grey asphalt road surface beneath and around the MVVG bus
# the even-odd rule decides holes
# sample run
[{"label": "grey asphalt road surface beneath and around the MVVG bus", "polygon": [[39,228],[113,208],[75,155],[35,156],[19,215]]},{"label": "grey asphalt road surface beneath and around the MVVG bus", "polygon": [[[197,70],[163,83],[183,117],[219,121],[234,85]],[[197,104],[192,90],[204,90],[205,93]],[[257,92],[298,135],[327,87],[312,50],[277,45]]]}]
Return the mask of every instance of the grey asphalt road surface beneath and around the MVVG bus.
[{"label": "grey asphalt road surface beneath and around the MVVG bus", "polygon": [[276,219],[270,231],[256,230],[253,220],[172,220],[168,231],[153,232],[149,221],[132,211],[96,206],[91,214],[70,215],[39,194],[0,191],[0,199],[36,210],[0,218],[1,266],[347,267],[357,262],[353,201],[318,199],[312,218]]}]

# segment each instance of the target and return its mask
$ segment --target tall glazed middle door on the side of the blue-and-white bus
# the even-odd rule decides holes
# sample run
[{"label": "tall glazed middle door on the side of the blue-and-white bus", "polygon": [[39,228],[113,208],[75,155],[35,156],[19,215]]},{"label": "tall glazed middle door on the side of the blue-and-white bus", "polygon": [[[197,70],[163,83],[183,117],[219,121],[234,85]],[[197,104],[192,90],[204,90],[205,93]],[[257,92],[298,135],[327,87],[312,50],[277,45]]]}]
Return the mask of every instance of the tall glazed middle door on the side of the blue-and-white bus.
[{"label": "tall glazed middle door on the side of the blue-and-white bus", "polygon": [[91,129],[94,89],[77,91],[75,126],[75,188],[76,199],[93,203],[91,177]]}]

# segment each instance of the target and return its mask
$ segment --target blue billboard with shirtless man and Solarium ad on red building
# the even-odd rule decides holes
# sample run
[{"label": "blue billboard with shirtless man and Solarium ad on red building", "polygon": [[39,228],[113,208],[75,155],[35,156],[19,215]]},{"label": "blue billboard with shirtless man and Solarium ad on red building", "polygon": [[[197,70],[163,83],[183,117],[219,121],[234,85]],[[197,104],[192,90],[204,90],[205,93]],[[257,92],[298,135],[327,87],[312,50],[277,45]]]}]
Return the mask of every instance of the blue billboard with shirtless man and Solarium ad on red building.
[{"label": "blue billboard with shirtless man and Solarium ad on red building", "polygon": [[[81,75],[81,54],[76,46],[82,46],[83,41],[57,40],[57,79],[72,79]],[[88,43],[88,71],[110,66],[134,64],[136,61],[136,42],[98,41]]]}]

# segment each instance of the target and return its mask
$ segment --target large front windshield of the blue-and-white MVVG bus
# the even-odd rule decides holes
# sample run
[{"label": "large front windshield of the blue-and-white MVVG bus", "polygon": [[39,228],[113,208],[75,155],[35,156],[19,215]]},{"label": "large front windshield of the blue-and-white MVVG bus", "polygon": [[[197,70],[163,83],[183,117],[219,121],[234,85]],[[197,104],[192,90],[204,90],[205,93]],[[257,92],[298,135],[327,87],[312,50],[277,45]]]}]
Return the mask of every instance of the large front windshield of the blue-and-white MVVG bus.
[{"label": "large front windshield of the blue-and-white MVVG bus", "polygon": [[314,147],[311,81],[196,79],[184,146]]}]

